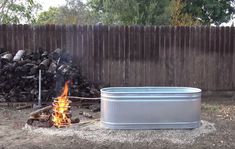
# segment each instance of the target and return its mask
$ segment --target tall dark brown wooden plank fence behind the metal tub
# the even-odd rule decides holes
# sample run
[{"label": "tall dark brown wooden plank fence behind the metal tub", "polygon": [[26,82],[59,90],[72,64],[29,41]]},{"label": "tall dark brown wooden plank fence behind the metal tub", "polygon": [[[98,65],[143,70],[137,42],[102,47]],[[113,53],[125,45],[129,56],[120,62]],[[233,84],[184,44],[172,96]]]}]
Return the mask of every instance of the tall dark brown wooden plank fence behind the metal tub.
[{"label": "tall dark brown wooden plank fence behind the metal tub", "polygon": [[64,48],[110,86],[235,90],[234,27],[0,25],[0,48]]}]

